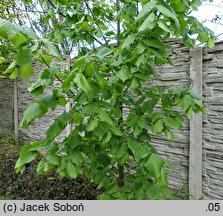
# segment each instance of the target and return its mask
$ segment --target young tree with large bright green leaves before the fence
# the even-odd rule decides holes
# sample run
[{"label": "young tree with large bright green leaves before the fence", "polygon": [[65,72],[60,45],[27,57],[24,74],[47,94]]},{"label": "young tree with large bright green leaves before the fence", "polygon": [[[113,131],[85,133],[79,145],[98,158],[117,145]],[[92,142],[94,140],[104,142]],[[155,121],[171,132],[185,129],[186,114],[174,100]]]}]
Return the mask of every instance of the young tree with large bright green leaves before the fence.
[{"label": "young tree with large bright green leaves before the fence", "polygon": [[[26,4],[32,0],[24,0]],[[45,38],[0,20],[0,33],[16,47],[15,61],[7,72],[23,79],[34,72],[32,60],[46,65],[29,88],[39,98],[24,112],[28,127],[49,109],[73,107],[57,118],[44,140],[25,144],[16,164],[17,172],[38,155],[37,173],[56,171],[61,177],[86,175],[103,189],[99,199],[170,198],[168,161],[151,143],[151,134],[164,133],[174,140],[184,116],[203,112],[197,96],[182,87],[151,87],[157,66],[172,63],[170,37],[182,38],[193,47],[192,35],[213,46],[213,35],[195,17],[199,0],[40,0],[51,5],[47,19],[54,32]],[[54,37],[52,37],[54,35]],[[55,37],[60,38],[55,40]],[[64,41],[77,52],[70,70],[49,41]],[[57,44],[58,45],[58,44]],[[73,49],[75,46],[75,49]],[[53,58],[57,63],[52,64]],[[61,85],[53,87],[55,81]],[[51,92],[45,89],[51,87]],[[177,108],[182,108],[180,113]],[[123,116],[128,109],[127,117]],[[73,130],[62,141],[56,138],[68,124]]]}]

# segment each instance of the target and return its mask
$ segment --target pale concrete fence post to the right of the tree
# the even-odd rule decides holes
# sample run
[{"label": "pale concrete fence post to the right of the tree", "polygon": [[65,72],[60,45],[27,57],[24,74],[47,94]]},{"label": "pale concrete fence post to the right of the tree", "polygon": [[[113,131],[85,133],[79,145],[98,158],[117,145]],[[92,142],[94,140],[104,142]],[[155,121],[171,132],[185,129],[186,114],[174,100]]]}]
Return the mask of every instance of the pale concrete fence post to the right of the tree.
[{"label": "pale concrete fence post to the right of the tree", "polygon": [[[191,89],[202,95],[202,48],[190,51]],[[202,197],[202,114],[193,114],[190,122],[189,155],[189,193],[190,199]]]}]

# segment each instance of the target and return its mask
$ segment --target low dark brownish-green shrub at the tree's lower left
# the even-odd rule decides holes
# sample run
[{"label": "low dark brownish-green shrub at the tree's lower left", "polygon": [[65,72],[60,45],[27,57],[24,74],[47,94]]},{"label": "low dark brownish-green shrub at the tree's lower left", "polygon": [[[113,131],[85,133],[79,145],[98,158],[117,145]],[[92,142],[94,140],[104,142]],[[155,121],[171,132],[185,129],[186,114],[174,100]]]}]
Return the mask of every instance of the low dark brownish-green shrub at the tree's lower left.
[{"label": "low dark brownish-green shrub at the tree's lower left", "polygon": [[[3,139],[4,140],[4,139]],[[0,139],[0,194],[10,199],[32,200],[92,200],[98,191],[83,176],[76,179],[58,179],[56,174],[38,176],[36,163],[29,165],[25,172],[16,174],[14,166],[18,158],[19,144]]]}]

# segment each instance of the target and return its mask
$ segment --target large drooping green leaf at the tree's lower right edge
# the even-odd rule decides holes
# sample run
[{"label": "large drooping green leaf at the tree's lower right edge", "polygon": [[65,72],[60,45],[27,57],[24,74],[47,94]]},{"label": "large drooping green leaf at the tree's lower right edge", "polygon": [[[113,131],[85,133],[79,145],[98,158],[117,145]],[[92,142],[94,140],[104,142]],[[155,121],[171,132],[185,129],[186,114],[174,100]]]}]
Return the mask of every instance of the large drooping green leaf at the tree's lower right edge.
[{"label": "large drooping green leaf at the tree's lower right edge", "polygon": [[160,179],[163,164],[163,160],[157,154],[151,154],[145,163],[145,167],[156,179]]}]

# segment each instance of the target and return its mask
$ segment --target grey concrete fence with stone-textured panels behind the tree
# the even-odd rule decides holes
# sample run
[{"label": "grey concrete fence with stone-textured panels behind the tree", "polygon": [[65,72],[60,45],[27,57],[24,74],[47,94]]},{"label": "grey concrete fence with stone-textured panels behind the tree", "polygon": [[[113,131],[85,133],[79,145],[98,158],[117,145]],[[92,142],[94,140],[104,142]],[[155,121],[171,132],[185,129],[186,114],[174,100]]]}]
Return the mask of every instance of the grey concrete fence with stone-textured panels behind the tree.
[{"label": "grey concrete fence with stone-textured panels behind the tree", "polygon": [[[175,47],[170,51],[174,66],[158,68],[155,84],[190,87],[208,100],[207,115],[196,114],[191,122],[185,120],[183,129],[174,133],[175,142],[161,135],[153,138],[152,144],[173,166],[171,188],[189,186],[191,199],[223,199],[223,42],[213,49],[188,49],[180,40],[169,43]],[[37,74],[42,70],[40,64],[35,68]],[[0,133],[11,131],[29,140],[43,138],[55,115],[64,111],[58,108],[28,129],[19,129],[22,113],[33,101],[27,92],[33,79],[0,79]]]}]

